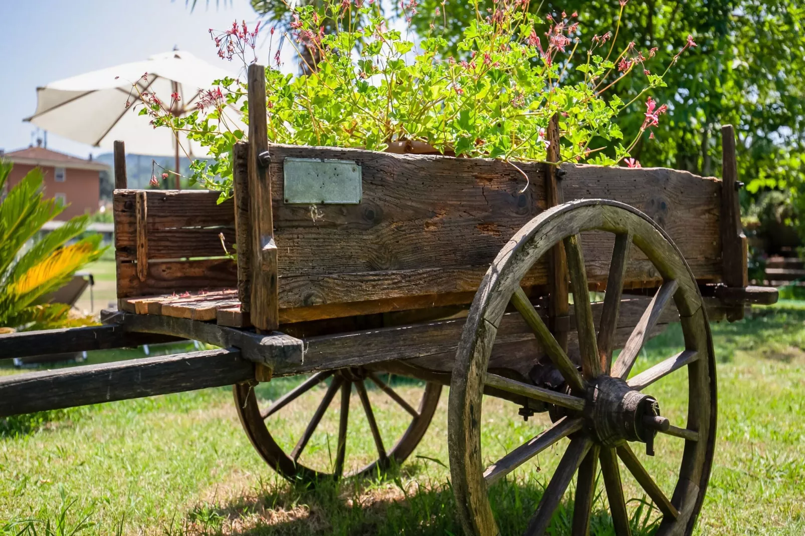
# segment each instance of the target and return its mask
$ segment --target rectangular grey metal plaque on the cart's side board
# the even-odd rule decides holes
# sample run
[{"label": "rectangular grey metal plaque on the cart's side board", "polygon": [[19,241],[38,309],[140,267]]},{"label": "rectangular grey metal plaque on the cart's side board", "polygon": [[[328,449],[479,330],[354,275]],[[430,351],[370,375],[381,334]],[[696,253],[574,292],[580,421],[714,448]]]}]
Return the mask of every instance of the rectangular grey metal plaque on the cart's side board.
[{"label": "rectangular grey metal plaque on the cart's side board", "polygon": [[358,204],[361,166],[351,160],[291,159],[284,162],[285,202]]}]

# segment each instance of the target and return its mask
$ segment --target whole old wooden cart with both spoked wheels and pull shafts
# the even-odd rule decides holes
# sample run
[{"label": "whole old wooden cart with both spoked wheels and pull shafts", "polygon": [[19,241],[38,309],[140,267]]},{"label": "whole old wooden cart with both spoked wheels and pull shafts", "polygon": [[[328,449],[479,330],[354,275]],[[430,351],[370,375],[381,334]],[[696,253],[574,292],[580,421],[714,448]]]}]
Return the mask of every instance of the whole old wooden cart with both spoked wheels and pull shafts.
[{"label": "whole old wooden cart with both spoked wheels and pull shafts", "polygon": [[[586,534],[599,463],[616,533],[630,534],[618,459],[662,513],[659,534],[691,534],[715,445],[708,320],[737,320],[746,303],[777,299],[774,289],[747,286],[731,127],[723,130],[721,180],[670,169],[516,169],[269,146],[258,66],[250,68],[249,98],[250,142],[233,150],[232,200],[126,189],[116,147],[118,311],[105,311],[105,325],[0,339],[0,357],[176,339],[223,349],[2,378],[0,416],[233,385],[262,458],[283,476],[315,482],[343,476],[353,386],[378,451],[357,471],[368,475],[411,454],[447,385],[452,489],[467,534],[497,534],[489,485],[564,438],[569,446],[527,534],[543,534],[576,474],[572,532]],[[557,122],[551,130],[556,140]],[[237,261],[223,253],[232,243]],[[630,377],[643,343],[671,322],[681,323],[683,351]],[[681,369],[687,422],[671,423],[651,386]],[[423,380],[419,405],[378,373]],[[309,376],[260,407],[256,382],[297,374]],[[390,450],[367,381],[410,414]],[[324,400],[293,450],[283,451],[266,418],[323,382]],[[336,462],[327,474],[299,457],[339,390]],[[526,418],[547,411],[552,425],[485,466],[484,394],[515,402]],[[684,442],[669,495],[630,446],[645,443],[653,454],[658,433]]]}]

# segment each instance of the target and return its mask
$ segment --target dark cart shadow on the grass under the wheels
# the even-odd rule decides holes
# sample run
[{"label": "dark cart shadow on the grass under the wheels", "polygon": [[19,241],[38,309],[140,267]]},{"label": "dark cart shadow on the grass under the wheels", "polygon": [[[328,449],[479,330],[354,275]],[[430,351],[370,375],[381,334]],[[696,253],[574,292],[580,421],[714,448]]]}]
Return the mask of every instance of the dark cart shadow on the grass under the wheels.
[{"label": "dark cart shadow on the grass under the wheels", "polygon": [[[411,464],[410,464],[411,465]],[[412,464],[415,465],[415,464]],[[416,472],[405,470],[404,472]],[[262,486],[219,505],[198,505],[186,513],[180,530],[166,534],[240,534],[242,536],[301,536],[308,534],[444,536],[463,534],[449,482],[419,480],[403,484],[400,476],[384,480],[320,482],[315,489],[286,484]],[[419,483],[418,483],[419,482]],[[601,482],[597,489],[603,486]],[[505,480],[490,490],[490,500],[501,534],[523,534],[543,495],[543,480],[535,477]],[[554,514],[547,534],[570,534],[573,490]],[[571,497],[568,499],[568,497]],[[638,504],[634,505],[634,502]],[[590,534],[614,536],[601,493],[592,512]],[[631,506],[636,506],[631,508]],[[658,517],[650,503],[630,501],[632,534],[650,536]]]}]

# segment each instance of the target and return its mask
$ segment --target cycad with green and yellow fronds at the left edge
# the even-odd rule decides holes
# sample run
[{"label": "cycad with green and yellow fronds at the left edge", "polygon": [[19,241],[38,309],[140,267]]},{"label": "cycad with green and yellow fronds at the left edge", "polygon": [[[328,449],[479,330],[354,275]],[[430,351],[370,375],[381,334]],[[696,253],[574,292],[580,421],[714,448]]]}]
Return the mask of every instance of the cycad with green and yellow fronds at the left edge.
[{"label": "cycad with green and yellow fronds at the left edge", "polygon": [[[12,165],[0,162],[0,192]],[[76,270],[101,256],[101,235],[85,233],[89,216],[76,216],[25,249],[42,226],[64,210],[45,199],[42,170],[35,168],[10,189],[0,202],[0,328],[49,329],[87,324],[70,319],[70,306],[44,303]]]}]

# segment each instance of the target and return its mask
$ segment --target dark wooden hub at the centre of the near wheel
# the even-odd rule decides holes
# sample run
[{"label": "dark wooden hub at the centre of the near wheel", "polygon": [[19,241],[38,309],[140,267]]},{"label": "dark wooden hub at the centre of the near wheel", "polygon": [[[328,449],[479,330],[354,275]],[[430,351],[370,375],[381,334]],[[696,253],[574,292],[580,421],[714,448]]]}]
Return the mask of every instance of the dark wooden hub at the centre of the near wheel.
[{"label": "dark wooden hub at the centre of the near wheel", "polygon": [[600,376],[588,389],[587,423],[598,443],[618,447],[627,441],[650,443],[650,424],[659,416],[657,400],[633,390],[619,377]]}]

